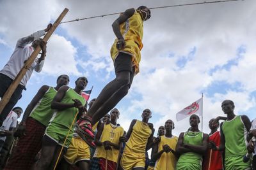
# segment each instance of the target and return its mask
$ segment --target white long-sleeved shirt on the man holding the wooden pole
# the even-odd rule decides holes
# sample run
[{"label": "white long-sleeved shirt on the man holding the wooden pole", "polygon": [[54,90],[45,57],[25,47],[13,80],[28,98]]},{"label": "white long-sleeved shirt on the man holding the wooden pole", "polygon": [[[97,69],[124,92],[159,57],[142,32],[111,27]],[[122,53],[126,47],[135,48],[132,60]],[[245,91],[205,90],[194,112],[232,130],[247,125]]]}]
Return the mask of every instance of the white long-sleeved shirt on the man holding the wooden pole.
[{"label": "white long-sleeved shirt on the man holding the wooden pole", "polygon": [[[12,53],[12,56],[10,57],[9,61],[5,64],[3,69],[0,71],[0,73],[5,74],[6,76],[14,78],[19,73],[20,69],[24,66],[24,63],[26,60],[29,59],[30,55],[34,52],[34,48],[32,46],[28,46],[30,43],[32,43],[35,39],[40,38],[41,36],[44,36],[45,31],[37,31],[31,34],[30,36],[26,36],[24,38],[20,38],[17,41],[16,47],[14,52]],[[38,63],[38,58],[35,59],[31,67],[28,69],[22,80],[20,81],[20,84],[24,87],[26,86],[33,70],[35,69],[36,72],[42,71],[42,67],[44,66],[44,60],[42,60],[40,63]]]}]

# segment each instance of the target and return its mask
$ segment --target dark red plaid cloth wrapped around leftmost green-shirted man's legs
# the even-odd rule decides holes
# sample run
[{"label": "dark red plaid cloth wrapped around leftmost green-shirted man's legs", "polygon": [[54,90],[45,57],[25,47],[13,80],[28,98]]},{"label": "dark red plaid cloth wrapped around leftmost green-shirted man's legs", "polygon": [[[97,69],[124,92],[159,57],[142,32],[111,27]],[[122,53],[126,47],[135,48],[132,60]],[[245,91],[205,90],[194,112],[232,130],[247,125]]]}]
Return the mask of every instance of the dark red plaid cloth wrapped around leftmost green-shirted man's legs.
[{"label": "dark red plaid cloth wrapped around leftmost green-shirted man's legs", "polygon": [[17,146],[15,146],[15,152],[5,170],[31,169],[35,163],[35,156],[42,147],[42,137],[44,136],[45,128],[44,125],[33,118],[29,117],[26,120],[26,136],[22,136],[19,139]]}]

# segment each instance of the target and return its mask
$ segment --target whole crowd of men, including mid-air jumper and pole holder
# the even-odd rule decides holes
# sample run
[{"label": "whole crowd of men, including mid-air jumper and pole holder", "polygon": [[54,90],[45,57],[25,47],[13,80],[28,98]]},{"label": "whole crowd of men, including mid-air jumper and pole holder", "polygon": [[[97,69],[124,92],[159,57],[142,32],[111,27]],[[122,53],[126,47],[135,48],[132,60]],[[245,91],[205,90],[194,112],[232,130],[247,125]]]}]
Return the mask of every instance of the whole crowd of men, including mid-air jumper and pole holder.
[{"label": "whole crowd of men, including mid-air jumper and pole holder", "polygon": [[[88,111],[88,102],[81,96],[88,83],[87,78],[83,76],[77,78],[74,89],[68,87],[69,77],[63,74],[58,77],[56,87],[44,85],[38,90],[15,131],[19,140],[4,169],[251,168],[252,161],[248,155],[252,156],[255,151],[256,123],[253,121],[252,125],[245,115],[236,116],[234,103],[230,100],[221,104],[227,117],[210,120],[209,135],[198,129],[200,118],[191,115],[188,131],[180,133],[179,138],[172,134],[172,120],[166,120],[164,126],[159,127],[157,137],[154,137],[154,125],[148,122],[152,117],[152,111],[149,109],[143,110],[142,120],[132,120],[127,133],[122,125],[117,124],[120,111],[114,107],[127,94],[134,76],[139,72],[143,21],[148,20],[150,16],[150,10],[146,6],[140,6],[136,10],[126,10],[113,22],[116,40],[111,47],[111,57],[116,78],[102,89],[97,99],[93,99]],[[6,126],[4,119],[10,119],[8,112],[21,97],[22,90],[26,89],[26,82],[33,69],[41,71],[46,43],[42,39],[34,40],[49,29],[51,24],[44,31],[20,39],[17,50],[0,71],[2,97],[31,52],[37,45],[41,46],[42,56],[36,59],[28,75],[20,82],[17,92],[13,95],[15,99],[11,99],[4,108],[0,125]],[[25,46],[31,41],[34,41],[31,47]],[[19,67],[16,67],[15,57],[20,56],[23,56],[22,60]],[[10,71],[12,75],[7,74]],[[13,111],[17,115],[22,112],[17,111],[17,108],[13,108]],[[225,121],[220,125],[219,120]],[[4,129],[1,135],[12,134],[15,128],[13,124]],[[1,128],[4,128],[3,126]],[[217,131],[219,126],[220,132]],[[147,151],[150,148],[152,154],[149,160]],[[255,167],[255,157],[253,161]]]}]

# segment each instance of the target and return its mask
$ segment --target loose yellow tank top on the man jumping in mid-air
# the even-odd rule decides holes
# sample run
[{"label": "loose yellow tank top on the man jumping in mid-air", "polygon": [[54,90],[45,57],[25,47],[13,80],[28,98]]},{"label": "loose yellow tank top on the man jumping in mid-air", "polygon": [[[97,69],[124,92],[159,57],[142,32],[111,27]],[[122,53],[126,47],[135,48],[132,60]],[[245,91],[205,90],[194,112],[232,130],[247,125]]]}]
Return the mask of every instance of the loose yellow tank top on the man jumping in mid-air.
[{"label": "loose yellow tank top on the man jumping in mid-air", "polygon": [[143,47],[143,20],[140,17],[140,13],[135,10],[134,15],[120,25],[120,31],[125,39],[125,48],[118,51],[116,48],[118,39],[115,39],[110,50],[111,57],[113,61],[115,61],[119,52],[128,53],[132,56],[135,74],[137,74],[139,73],[139,64],[141,60],[140,50]]}]

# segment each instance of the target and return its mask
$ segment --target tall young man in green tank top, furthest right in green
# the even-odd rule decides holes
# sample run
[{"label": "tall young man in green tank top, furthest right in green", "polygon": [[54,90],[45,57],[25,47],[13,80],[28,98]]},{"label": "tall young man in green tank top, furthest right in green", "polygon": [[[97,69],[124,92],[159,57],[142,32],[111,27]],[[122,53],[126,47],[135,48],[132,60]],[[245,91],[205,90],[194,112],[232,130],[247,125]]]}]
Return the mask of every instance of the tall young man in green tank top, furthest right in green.
[{"label": "tall young man in green tank top, furthest right in green", "polygon": [[246,134],[250,131],[251,122],[246,115],[235,115],[233,101],[225,100],[221,104],[227,120],[220,125],[221,144],[217,150],[225,150],[224,166],[226,170],[250,169],[250,161],[244,163]]}]

